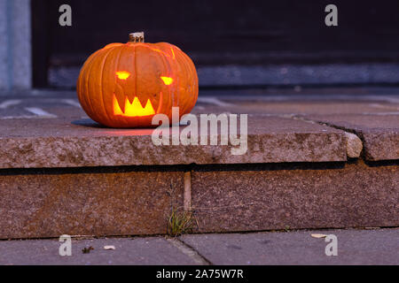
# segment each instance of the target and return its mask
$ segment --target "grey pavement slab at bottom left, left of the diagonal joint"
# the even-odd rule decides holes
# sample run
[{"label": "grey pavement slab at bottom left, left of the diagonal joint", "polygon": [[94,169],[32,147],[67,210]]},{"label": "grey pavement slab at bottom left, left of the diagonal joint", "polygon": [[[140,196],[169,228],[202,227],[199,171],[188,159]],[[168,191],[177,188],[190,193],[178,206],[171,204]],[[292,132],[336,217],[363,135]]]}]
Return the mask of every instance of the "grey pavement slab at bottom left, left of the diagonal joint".
[{"label": "grey pavement slab at bottom left, left of the diagonal joint", "polygon": [[[0,241],[1,265],[192,265],[191,257],[162,237],[73,240],[72,256],[59,256],[56,240]],[[105,246],[114,250],[105,250]],[[94,248],[89,254],[82,249]]]}]

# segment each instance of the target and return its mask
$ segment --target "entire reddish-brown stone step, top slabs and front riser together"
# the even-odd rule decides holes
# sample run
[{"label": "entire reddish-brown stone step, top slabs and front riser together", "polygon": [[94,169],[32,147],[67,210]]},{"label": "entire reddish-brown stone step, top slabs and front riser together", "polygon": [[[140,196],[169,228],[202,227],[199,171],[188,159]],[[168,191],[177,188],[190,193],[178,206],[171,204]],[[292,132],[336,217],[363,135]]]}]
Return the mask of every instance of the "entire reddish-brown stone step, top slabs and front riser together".
[{"label": "entire reddish-brown stone step, top slabs and front riser together", "polygon": [[399,226],[395,96],[202,96],[249,114],[242,156],[98,126],[72,93],[0,97],[0,239],[164,234],[173,211],[194,233]]}]

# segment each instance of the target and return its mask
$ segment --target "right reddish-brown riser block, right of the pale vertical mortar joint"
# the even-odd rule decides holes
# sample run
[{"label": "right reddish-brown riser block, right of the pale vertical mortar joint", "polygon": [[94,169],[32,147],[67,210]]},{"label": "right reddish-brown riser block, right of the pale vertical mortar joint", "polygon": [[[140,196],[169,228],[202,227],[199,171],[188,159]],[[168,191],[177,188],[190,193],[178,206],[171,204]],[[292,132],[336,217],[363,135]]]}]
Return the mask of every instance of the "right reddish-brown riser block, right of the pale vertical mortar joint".
[{"label": "right reddish-brown riser block, right of the pale vertical mortar joint", "polygon": [[192,172],[200,233],[399,226],[399,168],[238,165]]}]

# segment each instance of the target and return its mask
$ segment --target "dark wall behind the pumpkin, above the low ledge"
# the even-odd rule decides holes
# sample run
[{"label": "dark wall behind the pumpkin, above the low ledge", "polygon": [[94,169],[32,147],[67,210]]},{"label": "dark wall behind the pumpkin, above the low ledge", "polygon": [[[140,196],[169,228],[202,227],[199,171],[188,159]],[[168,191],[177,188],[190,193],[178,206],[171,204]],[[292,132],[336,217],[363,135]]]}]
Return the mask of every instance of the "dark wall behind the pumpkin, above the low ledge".
[{"label": "dark wall behind the pumpkin, above the low ledge", "polygon": [[[145,31],[171,42],[197,65],[399,62],[399,1],[32,0],[36,70],[81,65],[109,42]],[[73,26],[60,27],[70,4]],[[339,27],[325,26],[325,6]],[[45,84],[45,75],[35,75]]]}]

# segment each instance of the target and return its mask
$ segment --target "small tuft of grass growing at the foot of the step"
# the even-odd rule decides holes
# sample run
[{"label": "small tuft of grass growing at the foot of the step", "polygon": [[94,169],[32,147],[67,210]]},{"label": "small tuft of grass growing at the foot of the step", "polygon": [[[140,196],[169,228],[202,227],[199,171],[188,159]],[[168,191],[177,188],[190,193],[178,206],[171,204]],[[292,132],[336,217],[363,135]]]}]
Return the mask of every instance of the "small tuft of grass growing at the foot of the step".
[{"label": "small tuft of grass growing at the foot of the step", "polygon": [[168,219],[168,235],[178,237],[184,233],[192,233],[196,218],[192,211],[179,211],[172,209]]}]

